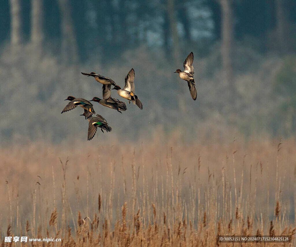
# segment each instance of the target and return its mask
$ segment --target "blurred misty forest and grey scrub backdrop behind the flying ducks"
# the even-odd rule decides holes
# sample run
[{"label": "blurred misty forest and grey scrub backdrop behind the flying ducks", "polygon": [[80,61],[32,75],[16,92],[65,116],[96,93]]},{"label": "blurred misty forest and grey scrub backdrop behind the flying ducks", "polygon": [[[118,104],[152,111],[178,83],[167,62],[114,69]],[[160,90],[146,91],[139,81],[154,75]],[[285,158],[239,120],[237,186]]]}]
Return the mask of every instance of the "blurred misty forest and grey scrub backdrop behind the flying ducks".
[{"label": "blurred misty forest and grey scrub backdrop behind the flying ducks", "polygon": [[[81,72],[123,86],[132,67],[143,111],[94,103],[113,137],[148,136],[156,126],[185,138],[229,128],[296,132],[294,0],[3,0],[0,23],[3,143],[86,140],[82,110],[60,114],[63,100],[102,96],[101,84]],[[191,51],[196,101],[173,73]]]}]

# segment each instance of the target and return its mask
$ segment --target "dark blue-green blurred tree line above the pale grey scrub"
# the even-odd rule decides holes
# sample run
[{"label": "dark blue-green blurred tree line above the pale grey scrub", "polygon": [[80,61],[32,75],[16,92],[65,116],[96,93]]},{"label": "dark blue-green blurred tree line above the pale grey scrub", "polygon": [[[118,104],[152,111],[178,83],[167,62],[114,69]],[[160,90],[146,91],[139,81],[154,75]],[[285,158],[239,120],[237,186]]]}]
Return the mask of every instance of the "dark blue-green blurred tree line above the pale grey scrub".
[{"label": "dark blue-green blurred tree line above the pale grey scrub", "polygon": [[296,23],[293,0],[4,0],[0,3],[0,43],[54,41],[68,54],[65,42],[69,42],[80,61],[94,52],[110,59],[143,44],[164,49],[175,59],[184,46],[205,56],[223,37],[226,5],[235,40],[253,37],[258,49],[266,52],[271,48],[268,35],[274,31],[280,52],[295,48],[287,41]]}]

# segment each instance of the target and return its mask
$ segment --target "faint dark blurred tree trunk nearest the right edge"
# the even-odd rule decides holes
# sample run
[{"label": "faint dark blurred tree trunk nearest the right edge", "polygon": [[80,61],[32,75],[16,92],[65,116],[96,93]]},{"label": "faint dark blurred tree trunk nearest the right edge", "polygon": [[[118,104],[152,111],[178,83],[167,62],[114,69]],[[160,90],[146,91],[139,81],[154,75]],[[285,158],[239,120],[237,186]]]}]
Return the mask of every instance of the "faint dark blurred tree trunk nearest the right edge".
[{"label": "faint dark blurred tree trunk nearest the right edge", "polygon": [[284,14],[283,0],[276,0],[276,32],[280,54],[283,54],[286,51],[285,26],[286,20]]}]

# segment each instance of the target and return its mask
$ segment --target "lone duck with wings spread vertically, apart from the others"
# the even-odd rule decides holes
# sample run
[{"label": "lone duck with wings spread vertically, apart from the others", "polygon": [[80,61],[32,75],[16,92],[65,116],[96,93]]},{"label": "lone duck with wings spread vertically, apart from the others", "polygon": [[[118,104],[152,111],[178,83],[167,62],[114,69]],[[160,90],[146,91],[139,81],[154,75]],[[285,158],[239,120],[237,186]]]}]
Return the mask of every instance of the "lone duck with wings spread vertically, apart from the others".
[{"label": "lone duck with wings spread vertically, apart from the others", "polygon": [[189,92],[193,100],[196,100],[197,92],[195,88],[195,82],[193,78],[194,68],[192,66],[193,63],[193,52],[190,52],[184,61],[184,71],[181,69],[177,69],[174,73],[178,73],[179,77],[188,83]]}]

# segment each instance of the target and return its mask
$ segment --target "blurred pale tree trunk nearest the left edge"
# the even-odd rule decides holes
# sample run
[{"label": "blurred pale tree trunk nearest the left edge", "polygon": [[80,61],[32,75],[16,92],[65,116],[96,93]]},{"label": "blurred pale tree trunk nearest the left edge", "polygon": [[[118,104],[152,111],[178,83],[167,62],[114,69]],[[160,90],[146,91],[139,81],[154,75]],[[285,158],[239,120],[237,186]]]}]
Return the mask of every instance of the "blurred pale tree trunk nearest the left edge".
[{"label": "blurred pale tree trunk nearest the left edge", "polygon": [[21,26],[21,7],[20,0],[9,0],[11,27],[10,27],[10,44],[15,50],[22,43],[22,26]]}]

